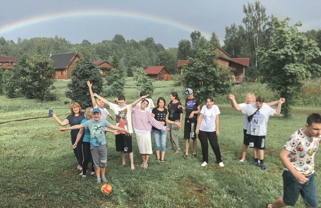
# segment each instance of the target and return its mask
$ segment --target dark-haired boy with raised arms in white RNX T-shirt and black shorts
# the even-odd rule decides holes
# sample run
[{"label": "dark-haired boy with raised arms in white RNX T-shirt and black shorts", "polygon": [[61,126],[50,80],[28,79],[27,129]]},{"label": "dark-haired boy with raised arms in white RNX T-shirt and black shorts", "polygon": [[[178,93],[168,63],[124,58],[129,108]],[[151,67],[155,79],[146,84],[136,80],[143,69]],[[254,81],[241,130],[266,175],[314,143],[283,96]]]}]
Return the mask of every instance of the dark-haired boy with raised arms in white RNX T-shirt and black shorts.
[{"label": "dark-haired boy with raised arms in white RNX T-shirt and black shorts", "polygon": [[260,158],[260,167],[262,170],[266,170],[264,164],[264,149],[265,149],[265,136],[267,132],[267,121],[269,116],[280,115],[281,106],[285,102],[284,98],[280,98],[278,107],[276,109],[264,103],[264,97],[258,96],[256,102],[247,104],[243,107],[239,107],[235,99],[231,100],[233,107],[241,108],[242,113],[248,118],[252,117],[249,121],[247,134],[250,134],[249,147],[254,148],[254,153],[258,152],[258,155],[254,155],[254,163],[251,165],[258,166],[258,158]]}]

